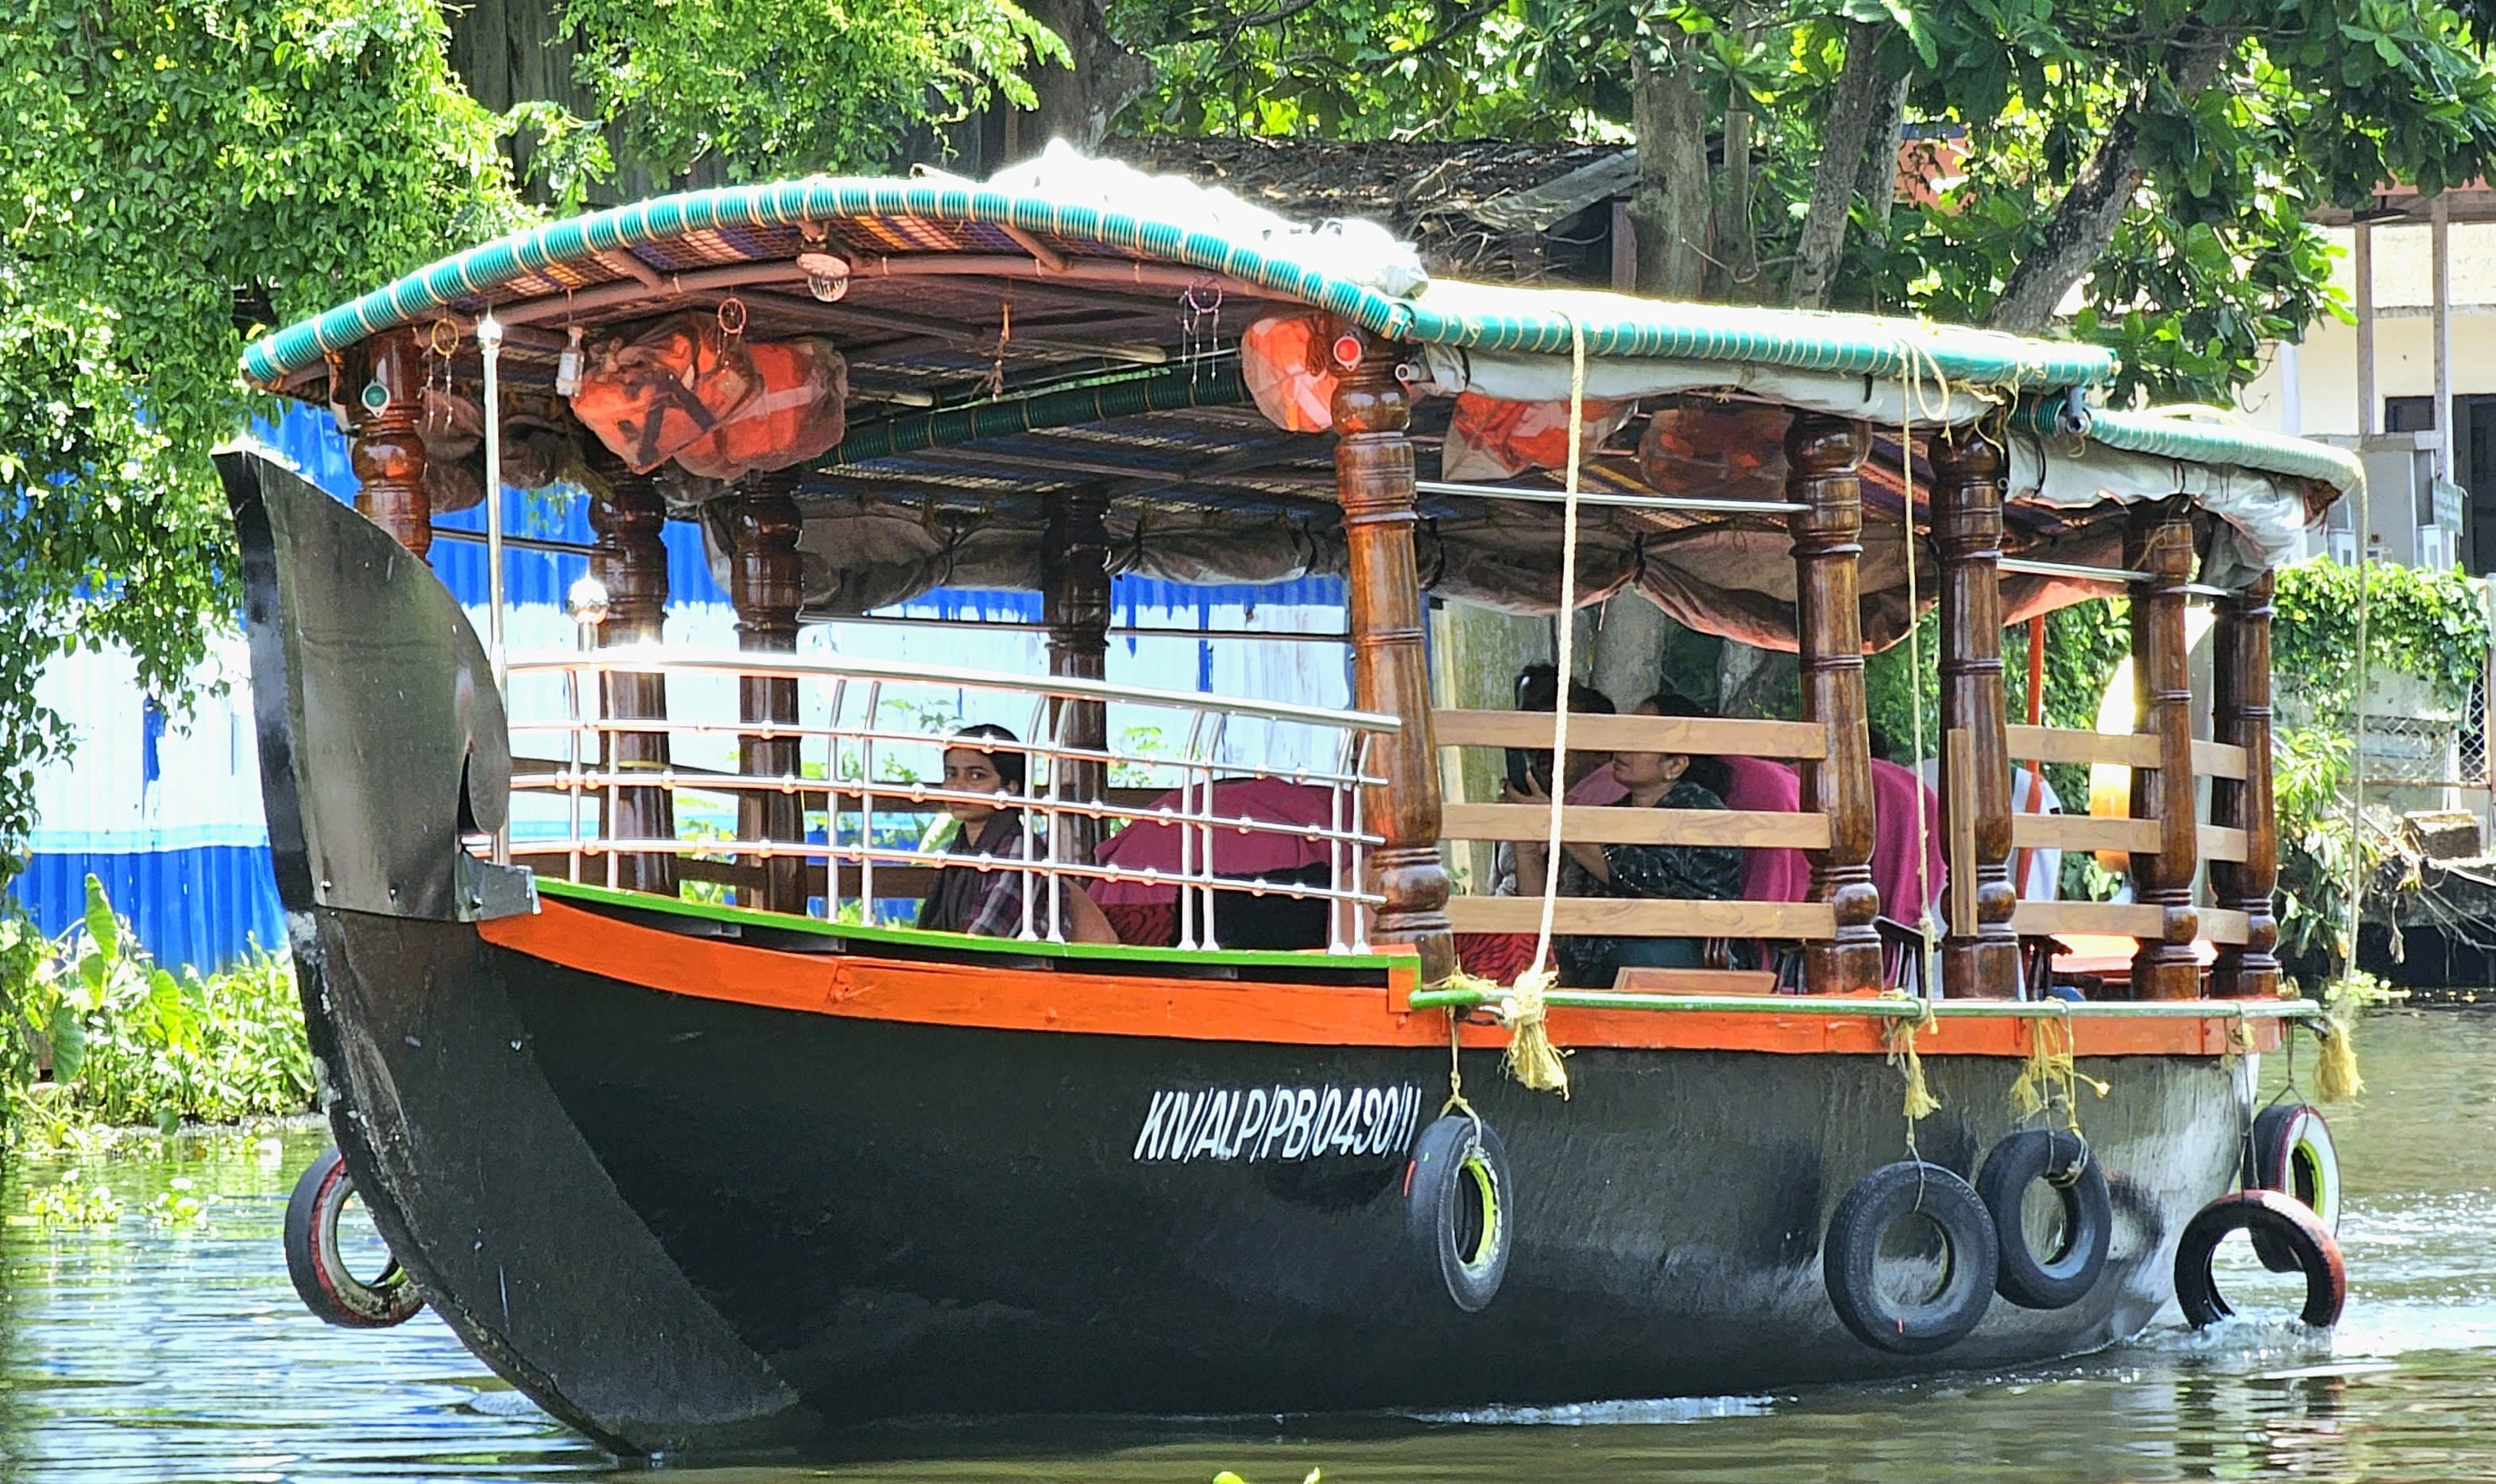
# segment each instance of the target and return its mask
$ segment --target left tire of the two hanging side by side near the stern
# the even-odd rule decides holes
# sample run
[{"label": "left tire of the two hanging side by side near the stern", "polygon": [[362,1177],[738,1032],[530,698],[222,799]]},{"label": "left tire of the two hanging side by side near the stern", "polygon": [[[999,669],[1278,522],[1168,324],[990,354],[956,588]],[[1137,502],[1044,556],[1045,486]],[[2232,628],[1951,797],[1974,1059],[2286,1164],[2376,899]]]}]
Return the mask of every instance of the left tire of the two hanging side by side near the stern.
[{"label": "left tire of the two hanging side by side near the stern", "polygon": [[[1907,1217],[1924,1217],[1942,1235],[1942,1284],[1919,1304],[1879,1289],[1879,1240]],[[1939,1165],[1899,1160],[1865,1175],[1830,1217],[1820,1272],[1837,1319],[1874,1349],[1932,1354],[1949,1349],[1984,1319],[1999,1272],[1994,1220],[1964,1180]]]}]

